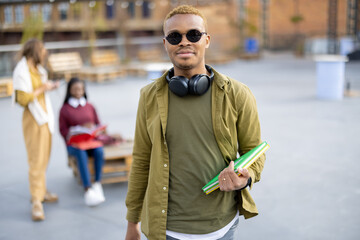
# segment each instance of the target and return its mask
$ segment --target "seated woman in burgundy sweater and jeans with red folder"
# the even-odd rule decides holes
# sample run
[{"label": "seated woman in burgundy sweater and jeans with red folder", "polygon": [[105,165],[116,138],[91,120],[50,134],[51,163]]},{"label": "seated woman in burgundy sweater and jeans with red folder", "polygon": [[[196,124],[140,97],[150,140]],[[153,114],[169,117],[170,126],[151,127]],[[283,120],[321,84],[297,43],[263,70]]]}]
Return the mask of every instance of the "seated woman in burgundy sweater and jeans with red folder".
[{"label": "seated woman in burgundy sweater and jeans with red folder", "polygon": [[[96,139],[86,139],[85,142],[73,143],[70,138],[79,129],[94,129],[100,125],[93,105],[87,102],[85,84],[78,78],[70,79],[64,104],[60,110],[59,128],[63,136],[68,154],[77,160],[81,180],[85,189],[84,200],[88,206],[96,206],[105,201],[101,186],[101,173],[104,164],[102,143]],[[91,184],[88,169],[88,156],[94,158],[95,183]]]}]

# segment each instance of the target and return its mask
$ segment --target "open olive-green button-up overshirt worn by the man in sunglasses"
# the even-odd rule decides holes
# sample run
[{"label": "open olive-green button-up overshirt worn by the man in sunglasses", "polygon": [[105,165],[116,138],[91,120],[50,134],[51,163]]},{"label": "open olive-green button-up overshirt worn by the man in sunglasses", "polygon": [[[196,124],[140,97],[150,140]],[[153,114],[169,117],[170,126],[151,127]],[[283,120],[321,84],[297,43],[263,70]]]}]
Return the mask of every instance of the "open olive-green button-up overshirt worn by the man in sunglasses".
[{"label": "open olive-green button-up overshirt worn by the man in sunglasses", "polygon": [[[212,127],[223,159],[229,163],[237,158],[237,153],[242,155],[261,143],[260,123],[256,101],[249,88],[213,71]],[[126,197],[127,220],[141,221],[141,230],[149,240],[166,239],[170,176],[166,142],[169,92],[166,74],[145,86],[140,93]],[[265,155],[249,168],[250,188],[260,180],[264,163]],[[240,215],[245,218],[256,216],[258,211],[249,190],[238,191],[238,194]]]}]

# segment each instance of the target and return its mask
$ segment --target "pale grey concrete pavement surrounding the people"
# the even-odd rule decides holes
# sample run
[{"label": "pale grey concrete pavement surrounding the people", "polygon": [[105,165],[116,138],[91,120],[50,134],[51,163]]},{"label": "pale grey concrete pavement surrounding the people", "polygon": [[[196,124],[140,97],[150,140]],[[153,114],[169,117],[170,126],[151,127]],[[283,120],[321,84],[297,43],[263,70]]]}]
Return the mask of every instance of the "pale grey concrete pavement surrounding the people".
[{"label": "pale grey concrete pavement surrounding the people", "polygon": [[[241,218],[236,239],[359,239],[360,98],[318,100],[315,63],[288,53],[215,67],[250,87],[262,138],[271,146],[251,191],[260,214]],[[360,90],[360,62],[346,65],[346,77]],[[133,137],[139,90],[148,82],[128,77],[87,84],[110,132]],[[51,93],[56,118],[65,90]],[[104,185],[106,202],[86,207],[58,131],[47,176],[60,201],[45,205],[44,222],[31,221],[22,110],[3,98],[0,111],[0,239],[124,239],[127,183]]]}]

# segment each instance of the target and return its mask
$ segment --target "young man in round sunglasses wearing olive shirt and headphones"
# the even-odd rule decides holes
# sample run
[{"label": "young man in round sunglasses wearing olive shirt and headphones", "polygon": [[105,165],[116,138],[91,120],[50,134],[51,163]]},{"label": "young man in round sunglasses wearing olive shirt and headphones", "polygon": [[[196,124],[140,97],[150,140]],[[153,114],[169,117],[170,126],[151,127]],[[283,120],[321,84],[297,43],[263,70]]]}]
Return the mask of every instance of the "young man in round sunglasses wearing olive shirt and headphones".
[{"label": "young man in round sunglasses wearing olive shirt and headphones", "polygon": [[[191,6],[164,21],[174,65],[141,90],[126,199],[127,240],[233,239],[238,216],[257,209],[247,186],[265,156],[237,176],[233,160],[261,143],[255,98],[242,83],[205,65],[205,17]],[[220,174],[220,190],[202,187]]]}]

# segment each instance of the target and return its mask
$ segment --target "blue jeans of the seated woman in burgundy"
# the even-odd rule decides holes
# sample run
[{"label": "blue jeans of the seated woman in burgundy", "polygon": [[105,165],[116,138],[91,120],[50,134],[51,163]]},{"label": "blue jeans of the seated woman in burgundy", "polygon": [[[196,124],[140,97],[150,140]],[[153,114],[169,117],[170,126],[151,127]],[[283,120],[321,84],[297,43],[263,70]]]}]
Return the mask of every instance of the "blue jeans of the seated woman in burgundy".
[{"label": "blue jeans of the seated woman in burgundy", "polygon": [[74,156],[80,172],[80,177],[84,188],[91,187],[91,176],[88,168],[88,156],[94,158],[95,181],[101,180],[102,166],[104,165],[104,149],[102,147],[81,150],[72,146],[67,146],[69,155]]}]

